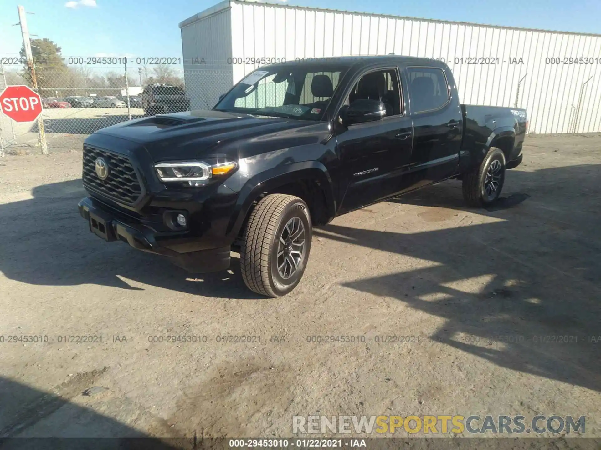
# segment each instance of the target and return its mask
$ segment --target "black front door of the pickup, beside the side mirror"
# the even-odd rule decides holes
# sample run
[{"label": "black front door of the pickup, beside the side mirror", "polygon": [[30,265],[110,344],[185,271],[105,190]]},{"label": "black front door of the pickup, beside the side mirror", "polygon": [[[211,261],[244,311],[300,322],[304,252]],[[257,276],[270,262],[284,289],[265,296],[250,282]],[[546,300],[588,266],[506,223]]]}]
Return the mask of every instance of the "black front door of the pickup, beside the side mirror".
[{"label": "black front door of the pickup, beside the side mirror", "polygon": [[386,104],[386,117],[350,125],[336,134],[341,172],[346,181],[341,184],[340,214],[401,191],[402,173],[410,162],[412,121],[404,110],[398,68],[362,73],[344,104],[359,98],[375,100],[372,93]]}]

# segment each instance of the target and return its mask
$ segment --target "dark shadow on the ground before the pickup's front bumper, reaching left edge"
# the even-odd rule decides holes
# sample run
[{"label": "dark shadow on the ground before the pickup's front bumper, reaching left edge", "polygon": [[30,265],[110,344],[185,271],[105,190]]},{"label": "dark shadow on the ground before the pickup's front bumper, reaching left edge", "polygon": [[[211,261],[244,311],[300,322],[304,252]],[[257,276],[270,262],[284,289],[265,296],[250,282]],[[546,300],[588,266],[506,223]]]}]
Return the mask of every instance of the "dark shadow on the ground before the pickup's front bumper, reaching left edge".
[{"label": "dark shadow on the ground before the pickup's front bumper, reaching left edge", "polygon": [[127,278],[194,295],[262,298],[246,289],[235,256],[229,272],[189,274],[163,257],[97,238],[77,211],[77,203],[87,195],[81,179],[42,185],[32,195],[29,200],[0,205],[0,271],[11,280],[143,290],[130,286],[123,280]]}]

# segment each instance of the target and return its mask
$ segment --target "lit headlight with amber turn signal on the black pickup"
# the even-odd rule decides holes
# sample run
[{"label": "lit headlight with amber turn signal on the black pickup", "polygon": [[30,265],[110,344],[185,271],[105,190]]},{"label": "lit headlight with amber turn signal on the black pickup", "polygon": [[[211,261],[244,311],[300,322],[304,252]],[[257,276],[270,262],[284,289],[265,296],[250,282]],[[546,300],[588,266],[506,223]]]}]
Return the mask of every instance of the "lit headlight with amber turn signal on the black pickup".
[{"label": "lit headlight with amber turn signal on the black pickup", "polygon": [[190,161],[154,165],[160,181],[188,181],[191,186],[201,184],[197,183],[199,181],[227,175],[234,169],[236,169],[234,162],[209,164],[204,161]]}]

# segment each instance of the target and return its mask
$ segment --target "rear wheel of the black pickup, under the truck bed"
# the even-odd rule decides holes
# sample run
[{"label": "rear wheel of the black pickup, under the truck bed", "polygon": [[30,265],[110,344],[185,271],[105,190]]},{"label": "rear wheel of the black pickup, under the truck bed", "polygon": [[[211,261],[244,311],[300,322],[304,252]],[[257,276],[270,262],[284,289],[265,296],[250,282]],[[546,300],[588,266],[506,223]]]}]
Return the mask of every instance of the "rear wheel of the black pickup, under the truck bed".
[{"label": "rear wheel of the black pickup, under the truck bed", "polygon": [[491,147],[480,166],[463,176],[463,199],[480,208],[495,202],[505,182],[505,154]]}]

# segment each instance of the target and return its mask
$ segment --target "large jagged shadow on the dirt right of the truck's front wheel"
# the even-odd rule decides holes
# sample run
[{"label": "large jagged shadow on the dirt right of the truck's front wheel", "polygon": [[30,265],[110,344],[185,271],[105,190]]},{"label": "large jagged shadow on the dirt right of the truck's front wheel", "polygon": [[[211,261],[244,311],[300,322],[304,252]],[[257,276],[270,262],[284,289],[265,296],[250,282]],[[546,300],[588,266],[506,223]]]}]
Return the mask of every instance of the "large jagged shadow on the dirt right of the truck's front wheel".
[{"label": "large jagged shadow on the dirt right of the truck's front wheel", "polygon": [[[601,165],[514,171],[509,178],[507,187],[531,197],[485,213],[489,223],[411,233],[330,224],[316,235],[435,263],[344,283],[446,319],[433,341],[601,391]],[[459,183],[398,201],[476,211],[462,206]]]}]

